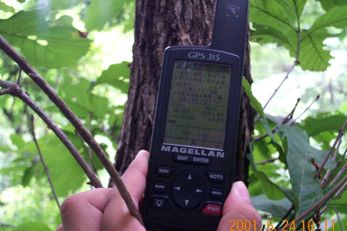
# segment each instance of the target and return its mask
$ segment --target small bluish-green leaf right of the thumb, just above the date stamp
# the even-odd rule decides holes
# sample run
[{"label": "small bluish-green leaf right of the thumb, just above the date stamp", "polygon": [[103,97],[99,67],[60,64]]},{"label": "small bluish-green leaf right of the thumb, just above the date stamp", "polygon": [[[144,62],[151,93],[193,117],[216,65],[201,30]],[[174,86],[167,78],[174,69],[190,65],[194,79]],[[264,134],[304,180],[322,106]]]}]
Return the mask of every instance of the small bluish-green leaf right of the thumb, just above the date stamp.
[{"label": "small bluish-green leaf right of the thumb, just above the date stamp", "polygon": [[265,195],[250,198],[255,208],[270,213],[273,217],[281,219],[288,212],[292,203],[287,199],[269,200]]}]

